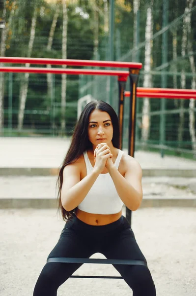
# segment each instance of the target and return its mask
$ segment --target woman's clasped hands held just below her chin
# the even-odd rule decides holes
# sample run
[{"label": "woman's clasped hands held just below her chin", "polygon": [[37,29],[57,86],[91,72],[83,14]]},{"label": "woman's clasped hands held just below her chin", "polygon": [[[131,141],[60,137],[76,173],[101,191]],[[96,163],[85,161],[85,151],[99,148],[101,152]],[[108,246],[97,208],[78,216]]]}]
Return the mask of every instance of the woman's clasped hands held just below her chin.
[{"label": "woman's clasped hands held just below her chin", "polygon": [[108,158],[112,158],[110,147],[106,143],[99,144],[94,150],[95,165],[93,170],[101,173],[106,167]]}]

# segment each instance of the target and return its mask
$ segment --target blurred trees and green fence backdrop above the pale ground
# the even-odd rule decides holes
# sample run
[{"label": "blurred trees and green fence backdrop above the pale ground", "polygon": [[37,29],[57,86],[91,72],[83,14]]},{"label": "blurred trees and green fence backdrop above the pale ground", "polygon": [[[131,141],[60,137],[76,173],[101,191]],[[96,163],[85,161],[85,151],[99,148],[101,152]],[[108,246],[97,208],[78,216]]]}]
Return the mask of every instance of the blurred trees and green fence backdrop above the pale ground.
[{"label": "blurred trees and green fence backdrop above the pale ground", "polygon": [[[141,62],[138,86],[196,89],[196,2],[1,0],[0,56]],[[70,137],[93,99],[117,112],[117,77],[0,73],[0,135]],[[138,98],[136,150],[194,159],[195,116],[192,99]]]}]

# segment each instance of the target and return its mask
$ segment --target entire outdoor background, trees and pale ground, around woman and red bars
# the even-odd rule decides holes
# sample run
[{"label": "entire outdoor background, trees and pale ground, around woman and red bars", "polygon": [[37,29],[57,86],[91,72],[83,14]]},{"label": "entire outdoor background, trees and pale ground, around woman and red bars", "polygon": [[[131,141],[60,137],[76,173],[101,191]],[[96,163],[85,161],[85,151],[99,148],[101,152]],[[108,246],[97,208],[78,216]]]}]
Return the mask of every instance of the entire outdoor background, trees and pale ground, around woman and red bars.
[{"label": "entire outdoor background, trees and pale ground, around woman and red bars", "polygon": [[[196,0],[0,0],[0,56],[141,62],[139,87],[196,90]],[[32,295],[64,226],[58,170],[94,99],[118,112],[117,77],[0,72],[0,295]],[[128,111],[126,97],[125,152]],[[132,227],[159,296],[196,296],[195,117],[194,99],[137,98],[143,200]],[[89,265],[79,274],[115,271]],[[130,296],[119,281],[70,279],[58,295]]]}]

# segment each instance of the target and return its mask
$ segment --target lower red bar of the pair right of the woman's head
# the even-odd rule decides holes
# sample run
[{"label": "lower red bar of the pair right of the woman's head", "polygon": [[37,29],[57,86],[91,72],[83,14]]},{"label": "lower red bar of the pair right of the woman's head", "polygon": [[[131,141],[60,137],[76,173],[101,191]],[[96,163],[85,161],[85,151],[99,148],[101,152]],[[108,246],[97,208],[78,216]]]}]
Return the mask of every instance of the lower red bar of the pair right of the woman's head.
[{"label": "lower red bar of the pair right of the woman's head", "polygon": [[[125,92],[125,97],[130,97],[130,92]],[[180,93],[150,93],[150,92],[138,92],[138,98],[166,98],[166,99],[196,99],[196,94],[180,94]]]}]

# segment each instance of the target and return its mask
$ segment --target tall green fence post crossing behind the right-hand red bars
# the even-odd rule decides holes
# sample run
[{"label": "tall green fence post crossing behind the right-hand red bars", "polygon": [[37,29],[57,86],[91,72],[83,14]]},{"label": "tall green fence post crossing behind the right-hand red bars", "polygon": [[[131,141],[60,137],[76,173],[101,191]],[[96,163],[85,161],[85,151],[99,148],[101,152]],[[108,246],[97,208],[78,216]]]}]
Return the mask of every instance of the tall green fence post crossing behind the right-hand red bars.
[{"label": "tall green fence post crossing behind the right-hand red bars", "polygon": [[[163,1],[163,28],[168,25],[168,0]],[[163,33],[162,38],[162,64],[168,62],[168,31]],[[161,87],[167,87],[167,75],[161,75]],[[163,146],[166,141],[166,99],[161,99],[161,118],[160,118],[160,144]],[[164,157],[164,149],[161,148],[161,157]]]}]

